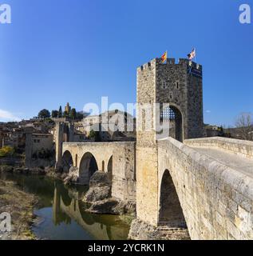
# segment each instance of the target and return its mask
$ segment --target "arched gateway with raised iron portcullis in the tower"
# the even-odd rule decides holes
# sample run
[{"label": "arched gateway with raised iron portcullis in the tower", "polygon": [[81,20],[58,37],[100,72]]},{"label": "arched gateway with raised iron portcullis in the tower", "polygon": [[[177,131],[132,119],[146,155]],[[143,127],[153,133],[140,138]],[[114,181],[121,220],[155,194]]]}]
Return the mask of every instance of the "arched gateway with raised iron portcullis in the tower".
[{"label": "arched gateway with raised iron portcullis in the tower", "polygon": [[183,142],[183,117],[176,106],[167,106],[160,112],[160,123],[169,125],[168,136]]}]

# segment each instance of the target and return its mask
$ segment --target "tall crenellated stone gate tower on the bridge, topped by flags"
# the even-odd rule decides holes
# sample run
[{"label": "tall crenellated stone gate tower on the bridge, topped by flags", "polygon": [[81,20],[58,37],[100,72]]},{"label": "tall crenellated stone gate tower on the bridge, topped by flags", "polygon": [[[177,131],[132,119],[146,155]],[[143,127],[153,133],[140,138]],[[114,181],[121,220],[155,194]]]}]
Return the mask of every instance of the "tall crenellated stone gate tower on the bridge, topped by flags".
[{"label": "tall crenellated stone gate tower on the bridge, topped by flags", "polygon": [[[156,109],[152,108],[151,115],[147,116],[142,106],[155,103]],[[167,63],[163,64],[160,58],[140,66],[137,69],[137,104],[137,218],[156,226],[159,215],[159,134],[154,129],[140,129],[140,126],[143,128],[148,118],[152,120],[152,127],[163,119],[167,120],[169,125],[169,135],[181,142],[187,138],[203,137],[202,66],[189,62],[188,59],[180,59],[179,63],[176,63],[175,59],[168,59]],[[165,104],[169,104],[169,107]],[[157,108],[160,111],[157,111]],[[164,123],[166,125],[166,122]],[[168,134],[165,137],[168,137]]]}]

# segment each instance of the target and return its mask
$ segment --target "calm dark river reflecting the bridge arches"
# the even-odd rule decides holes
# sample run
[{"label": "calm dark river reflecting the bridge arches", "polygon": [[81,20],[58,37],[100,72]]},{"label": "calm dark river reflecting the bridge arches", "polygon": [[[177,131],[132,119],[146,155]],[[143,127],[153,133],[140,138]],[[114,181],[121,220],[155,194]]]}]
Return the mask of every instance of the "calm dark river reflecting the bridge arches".
[{"label": "calm dark river reflecting the bridge arches", "polygon": [[59,180],[44,176],[1,174],[17,183],[19,189],[39,198],[34,214],[38,222],[32,231],[39,239],[50,240],[125,240],[129,225],[120,216],[88,214],[81,201],[87,186],[66,187]]}]

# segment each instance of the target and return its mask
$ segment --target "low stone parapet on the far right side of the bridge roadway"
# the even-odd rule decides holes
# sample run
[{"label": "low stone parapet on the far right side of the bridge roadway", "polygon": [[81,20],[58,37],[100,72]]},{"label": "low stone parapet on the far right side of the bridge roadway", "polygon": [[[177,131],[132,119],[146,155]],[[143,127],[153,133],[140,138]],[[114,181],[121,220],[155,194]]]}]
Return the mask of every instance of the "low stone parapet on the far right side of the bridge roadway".
[{"label": "low stone parapet on the far right side of the bridge roadway", "polygon": [[216,148],[240,155],[243,158],[253,158],[253,142],[250,141],[234,138],[211,137],[186,139],[184,140],[184,144],[191,147]]}]

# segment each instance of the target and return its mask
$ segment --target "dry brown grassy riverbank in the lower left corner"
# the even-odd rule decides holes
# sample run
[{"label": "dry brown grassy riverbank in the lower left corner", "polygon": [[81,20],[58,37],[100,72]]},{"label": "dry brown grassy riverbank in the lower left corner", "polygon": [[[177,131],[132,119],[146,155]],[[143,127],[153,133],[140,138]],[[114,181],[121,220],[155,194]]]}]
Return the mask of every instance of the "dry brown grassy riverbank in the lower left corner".
[{"label": "dry brown grassy riverbank in the lower left corner", "polygon": [[11,216],[11,232],[2,234],[0,240],[31,240],[35,239],[31,226],[36,216],[34,206],[38,198],[18,188],[14,182],[0,180],[0,213]]}]

